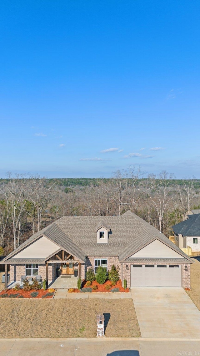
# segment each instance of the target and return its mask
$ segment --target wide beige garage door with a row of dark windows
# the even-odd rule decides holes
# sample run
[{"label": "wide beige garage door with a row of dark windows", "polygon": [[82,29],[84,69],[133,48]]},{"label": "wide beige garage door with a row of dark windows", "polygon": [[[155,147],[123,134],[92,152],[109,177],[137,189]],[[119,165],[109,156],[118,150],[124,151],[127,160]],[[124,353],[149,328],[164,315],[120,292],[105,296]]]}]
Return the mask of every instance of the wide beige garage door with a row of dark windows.
[{"label": "wide beige garage door with a row of dark windows", "polygon": [[131,287],[181,287],[181,266],[131,265]]}]

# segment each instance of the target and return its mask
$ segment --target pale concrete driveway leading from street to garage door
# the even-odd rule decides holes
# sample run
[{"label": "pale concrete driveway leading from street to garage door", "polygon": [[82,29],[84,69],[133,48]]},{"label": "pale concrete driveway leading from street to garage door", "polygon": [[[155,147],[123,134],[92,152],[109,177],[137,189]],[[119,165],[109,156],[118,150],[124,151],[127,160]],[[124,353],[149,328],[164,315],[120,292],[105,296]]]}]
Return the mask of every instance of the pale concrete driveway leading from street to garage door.
[{"label": "pale concrete driveway leading from street to garage door", "polygon": [[183,288],[131,290],[142,337],[200,338],[200,312]]}]

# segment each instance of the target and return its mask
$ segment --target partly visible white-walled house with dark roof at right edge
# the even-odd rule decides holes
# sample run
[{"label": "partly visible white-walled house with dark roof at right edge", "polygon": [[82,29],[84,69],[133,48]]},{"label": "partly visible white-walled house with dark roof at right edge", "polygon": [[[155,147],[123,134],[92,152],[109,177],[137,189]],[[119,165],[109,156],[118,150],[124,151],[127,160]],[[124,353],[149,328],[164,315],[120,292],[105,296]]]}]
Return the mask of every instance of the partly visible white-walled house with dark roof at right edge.
[{"label": "partly visible white-walled house with dark roof at right edge", "polygon": [[191,247],[192,251],[200,251],[200,214],[188,215],[188,219],[173,225],[174,244],[179,248]]}]

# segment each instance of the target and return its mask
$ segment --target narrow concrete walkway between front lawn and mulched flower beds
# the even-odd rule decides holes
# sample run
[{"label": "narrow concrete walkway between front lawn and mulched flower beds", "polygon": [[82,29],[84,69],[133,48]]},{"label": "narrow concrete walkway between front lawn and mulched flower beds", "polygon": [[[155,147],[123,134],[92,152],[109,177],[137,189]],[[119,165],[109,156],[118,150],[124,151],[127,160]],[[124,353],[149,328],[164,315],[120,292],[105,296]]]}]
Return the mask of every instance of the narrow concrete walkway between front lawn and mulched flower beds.
[{"label": "narrow concrete walkway between front lawn and mulched flower beds", "polygon": [[96,292],[96,293],[68,293],[68,288],[59,288],[56,290],[54,299],[67,298],[67,299],[87,299],[87,298],[99,298],[99,299],[132,299],[131,293],[111,293],[111,292]]}]

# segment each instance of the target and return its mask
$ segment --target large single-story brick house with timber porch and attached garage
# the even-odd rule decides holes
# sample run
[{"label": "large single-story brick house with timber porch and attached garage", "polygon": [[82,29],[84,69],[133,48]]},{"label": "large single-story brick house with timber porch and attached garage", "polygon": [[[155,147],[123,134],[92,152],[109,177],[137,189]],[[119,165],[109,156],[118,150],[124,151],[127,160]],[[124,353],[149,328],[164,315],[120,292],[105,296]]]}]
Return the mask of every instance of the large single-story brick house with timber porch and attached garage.
[{"label": "large single-story brick house with timber porch and attached garage", "polygon": [[[10,253],[0,263],[10,264],[10,281],[22,275],[41,274],[54,281],[56,268],[62,274],[86,277],[92,267],[120,267],[120,278],[128,287],[190,287],[190,264],[166,236],[137,215],[64,216],[45,227]],[[47,284],[48,284],[47,282]]]}]

